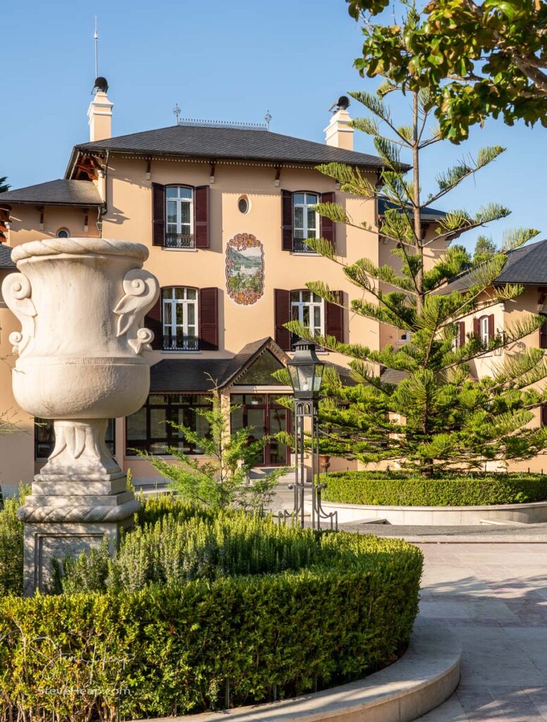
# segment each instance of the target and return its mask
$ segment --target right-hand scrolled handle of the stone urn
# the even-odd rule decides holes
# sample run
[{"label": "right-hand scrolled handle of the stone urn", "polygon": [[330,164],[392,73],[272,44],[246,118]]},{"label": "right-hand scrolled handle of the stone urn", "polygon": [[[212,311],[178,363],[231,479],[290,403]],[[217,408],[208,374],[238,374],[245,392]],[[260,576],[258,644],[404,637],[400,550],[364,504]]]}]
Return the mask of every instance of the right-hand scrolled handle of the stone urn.
[{"label": "right-hand scrolled handle of the stone urn", "polygon": [[157,278],[144,269],[131,269],[123,277],[123,291],[125,295],[114,308],[118,316],[116,336],[127,336],[127,342],[136,354],[150,351],[154,334],[141,328],[141,323],[159,296]]}]

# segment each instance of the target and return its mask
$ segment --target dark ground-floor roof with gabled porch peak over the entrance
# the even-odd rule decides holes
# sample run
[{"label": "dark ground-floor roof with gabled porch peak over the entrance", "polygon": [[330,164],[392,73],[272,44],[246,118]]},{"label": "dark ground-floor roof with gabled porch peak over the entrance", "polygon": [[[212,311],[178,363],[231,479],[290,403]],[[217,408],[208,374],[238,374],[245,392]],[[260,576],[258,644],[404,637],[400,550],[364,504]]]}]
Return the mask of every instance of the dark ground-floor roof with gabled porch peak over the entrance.
[{"label": "dark ground-floor roof with gabled porch peak over the entrance", "polygon": [[286,359],[283,351],[269,337],[246,344],[231,359],[163,359],[150,369],[150,391],[201,393],[211,391],[214,383],[220,387],[237,382],[240,375],[264,349],[270,349],[276,357]]}]

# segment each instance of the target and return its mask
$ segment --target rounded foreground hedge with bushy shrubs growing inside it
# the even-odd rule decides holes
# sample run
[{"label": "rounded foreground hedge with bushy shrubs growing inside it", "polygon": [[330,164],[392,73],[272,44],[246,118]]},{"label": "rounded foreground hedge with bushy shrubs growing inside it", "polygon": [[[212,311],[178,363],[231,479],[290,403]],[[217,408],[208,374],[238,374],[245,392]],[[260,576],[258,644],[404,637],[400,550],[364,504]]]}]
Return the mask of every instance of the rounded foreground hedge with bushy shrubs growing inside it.
[{"label": "rounded foreground hedge with bushy shrubs growing inside it", "polygon": [[0,719],[198,712],[222,708],[227,684],[231,705],[250,704],[363,677],[406,647],[416,547],[174,504],[163,518],[150,509],[156,521],[95,578],[125,570],[132,591],[113,573],[106,593],[0,599]]}]

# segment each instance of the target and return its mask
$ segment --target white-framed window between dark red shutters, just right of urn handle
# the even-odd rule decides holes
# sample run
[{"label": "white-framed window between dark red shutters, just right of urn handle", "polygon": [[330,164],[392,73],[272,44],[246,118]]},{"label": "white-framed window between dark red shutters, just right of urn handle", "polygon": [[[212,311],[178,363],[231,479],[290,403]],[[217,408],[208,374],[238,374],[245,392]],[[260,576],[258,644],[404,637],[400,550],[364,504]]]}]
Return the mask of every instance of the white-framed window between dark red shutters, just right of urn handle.
[{"label": "white-framed window between dark red shutters, just right of urn handle", "polygon": [[162,290],[163,348],[198,350],[198,292],[195,288]]}]

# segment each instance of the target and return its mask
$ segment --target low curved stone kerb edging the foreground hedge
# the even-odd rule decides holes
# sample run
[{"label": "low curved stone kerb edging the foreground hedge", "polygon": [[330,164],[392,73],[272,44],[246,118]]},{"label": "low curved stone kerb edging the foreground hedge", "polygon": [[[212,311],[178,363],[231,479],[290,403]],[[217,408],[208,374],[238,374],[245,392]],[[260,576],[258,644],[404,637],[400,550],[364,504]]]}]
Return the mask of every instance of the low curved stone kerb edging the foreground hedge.
[{"label": "low curved stone kerb edging the foreground hedge", "polygon": [[411,722],[452,695],[460,681],[460,659],[461,644],[455,635],[433,619],[418,616],[408,650],[401,659],[365,679],[293,700],[184,718],[162,718],[162,722],[175,719],[192,722]]}]

